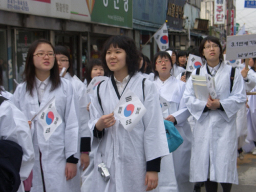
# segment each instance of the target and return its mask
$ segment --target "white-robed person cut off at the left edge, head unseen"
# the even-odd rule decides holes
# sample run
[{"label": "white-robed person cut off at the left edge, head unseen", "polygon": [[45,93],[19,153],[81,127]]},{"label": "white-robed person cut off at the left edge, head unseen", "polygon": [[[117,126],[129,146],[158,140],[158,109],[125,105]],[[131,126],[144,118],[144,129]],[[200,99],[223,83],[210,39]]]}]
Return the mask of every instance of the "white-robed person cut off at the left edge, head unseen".
[{"label": "white-robed person cut off at the left edge, head unseen", "polygon": [[[0,105],[0,122],[0,139],[13,141],[22,147],[23,158],[19,176],[20,180],[24,181],[28,178],[35,161],[27,118],[11,101],[5,100]],[[18,189],[18,192],[22,191],[23,182]]]}]

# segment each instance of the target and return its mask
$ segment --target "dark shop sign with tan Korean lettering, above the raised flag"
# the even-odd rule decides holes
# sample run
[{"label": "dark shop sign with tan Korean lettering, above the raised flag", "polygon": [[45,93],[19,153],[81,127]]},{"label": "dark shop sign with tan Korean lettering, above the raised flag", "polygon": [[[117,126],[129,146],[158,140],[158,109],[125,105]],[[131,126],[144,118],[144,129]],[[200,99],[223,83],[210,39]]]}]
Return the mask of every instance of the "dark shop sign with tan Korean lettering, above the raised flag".
[{"label": "dark shop sign with tan Korean lettering, above the raised flag", "polygon": [[169,0],[167,4],[167,25],[182,29],[185,0]]}]

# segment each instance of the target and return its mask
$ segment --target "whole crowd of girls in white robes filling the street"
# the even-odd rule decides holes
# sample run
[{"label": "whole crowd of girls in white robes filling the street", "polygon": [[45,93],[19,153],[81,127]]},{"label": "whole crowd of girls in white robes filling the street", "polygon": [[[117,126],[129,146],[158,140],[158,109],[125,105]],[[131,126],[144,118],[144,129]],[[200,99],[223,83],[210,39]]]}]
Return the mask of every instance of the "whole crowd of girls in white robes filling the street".
[{"label": "whole crowd of girls in white robes filling the street", "polygon": [[[73,74],[65,47],[34,41],[24,82],[13,95],[3,86],[0,90],[8,99],[0,105],[0,138],[23,150],[18,191],[192,192],[197,182],[205,182],[207,192],[217,191],[218,183],[230,191],[238,184],[237,156],[247,135],[246,116],[247,139],[256,146],[255,96],[246,97],[246,91],[256,88],[256,59],[249,60],[249,69],[233,70],[223,60],[219,39],[211,36],[190,53],[204,61],[191,73],[185,71],[184,51],[160,51],[151,63],[133,39],[112,36],[101,60],[88,62],[82,83]],[[215,79],[216,99],[204,101],[195,95],[190,76],[205,74]],[[88,94],[96,76],[108,78]],[[146,108],[132,131],[125,130],[113,112],[127,89]],[[163,112],[159,96],[169,102]],[[52,98],[60,124],[46,139],[49,130],[41,119],[51,124],[54,117],[38,114]],[[184,140],[173,153],[164,119],[174,123]]]}]

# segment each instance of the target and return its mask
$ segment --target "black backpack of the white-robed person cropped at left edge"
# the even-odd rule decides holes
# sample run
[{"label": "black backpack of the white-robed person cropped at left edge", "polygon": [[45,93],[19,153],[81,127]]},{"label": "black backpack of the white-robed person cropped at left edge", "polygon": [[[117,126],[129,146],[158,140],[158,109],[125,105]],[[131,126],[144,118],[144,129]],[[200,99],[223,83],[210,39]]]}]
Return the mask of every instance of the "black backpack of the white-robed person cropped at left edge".
[{"label": "black backpack of the white-robed person cropped at left edge", "polygon": [[[7,100],[5,97],[0,96],[0,105],[5,100]],[[9,140],[0,140],[0,191],[16,192],[18,190],[22,156],[23,151],[19,144]]]}]

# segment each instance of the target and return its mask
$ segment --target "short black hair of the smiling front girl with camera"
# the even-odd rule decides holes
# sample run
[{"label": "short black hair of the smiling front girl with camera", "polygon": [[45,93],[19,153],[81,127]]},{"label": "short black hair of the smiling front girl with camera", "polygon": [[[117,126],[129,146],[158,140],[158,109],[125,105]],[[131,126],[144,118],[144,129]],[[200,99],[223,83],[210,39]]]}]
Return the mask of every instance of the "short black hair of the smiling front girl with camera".
[{"label": "short black hair of the smiling front girl with camera", "polygon": [[110,37],[106,40],[101,54],[101,60],[103,66],[106,67],[109,75],[112,75],[114,72],[110,71],[108,66],[106,65],[106,51],[113,46],[114,48],[123,49],[126,53],[126,66],[128,69],[128,74],[133,76],[136,72],[139,71],[139,54],[135,45],[135,42],[132,38],[124,36],[124,35],[116,35]]}]

